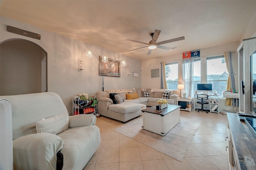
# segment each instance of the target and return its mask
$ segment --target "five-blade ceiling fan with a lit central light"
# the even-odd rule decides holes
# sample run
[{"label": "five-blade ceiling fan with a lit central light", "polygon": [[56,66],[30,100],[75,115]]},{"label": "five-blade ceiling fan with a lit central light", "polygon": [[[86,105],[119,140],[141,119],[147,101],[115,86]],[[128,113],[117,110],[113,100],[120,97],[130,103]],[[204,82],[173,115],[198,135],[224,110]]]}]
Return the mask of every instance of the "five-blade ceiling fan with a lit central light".
[{"label": "five-blade ceiling fan with a lit central light", "polygon": [[156,43],[156,40],[158,39],[158,36],[160,35],[160,32],[161,30],[155,30],[154,33],[150,33],[149,35],[152,37],[152,40],[149,41],[149,43],[143,43],[141,41],[136,41],[136,40],[132,40],[132,39],[126,39],[128,41],[132,41],[132,42],[136,42],[136,43],[142,43],[142,44],[146,44],[147,46],[144,46],[144,47],[140,47],[140,48],[137,48],[137,49],[133,49],[133,50],[129,50],[129,51],[134,51],[134,50],[138,50],[138,49],[142,49],[142,48],[145,48],[145,47],[148,47],[148,55],[151,54],[151,51],[152,49],[155,49],[155,48],[160,48],[160,49],[165,49],[165,50],[173,50],[175,49],[175,47],[166,47],[166,46],[163,46],[162,44],[166,44],[166,43],[171,43],[171,42],[175,42],[175,41],[180,41],[180,40],[184,40],[185,37],[178,37],[178,38],[174,38],[174,39],[168,39],[168,40],[165,40],[165,41],[160,41],[158,43]]}]

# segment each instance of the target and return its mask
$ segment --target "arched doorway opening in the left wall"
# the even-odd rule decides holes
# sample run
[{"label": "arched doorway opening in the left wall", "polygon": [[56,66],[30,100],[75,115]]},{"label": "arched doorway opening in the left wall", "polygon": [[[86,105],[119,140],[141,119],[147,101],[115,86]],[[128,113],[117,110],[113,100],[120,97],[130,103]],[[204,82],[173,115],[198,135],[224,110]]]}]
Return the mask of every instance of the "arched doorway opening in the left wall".
[{"label": "arched doorway opening in the left wall", "polygon": [[0,43],[0,96],[47,91],[47,53],[26,39]]}]

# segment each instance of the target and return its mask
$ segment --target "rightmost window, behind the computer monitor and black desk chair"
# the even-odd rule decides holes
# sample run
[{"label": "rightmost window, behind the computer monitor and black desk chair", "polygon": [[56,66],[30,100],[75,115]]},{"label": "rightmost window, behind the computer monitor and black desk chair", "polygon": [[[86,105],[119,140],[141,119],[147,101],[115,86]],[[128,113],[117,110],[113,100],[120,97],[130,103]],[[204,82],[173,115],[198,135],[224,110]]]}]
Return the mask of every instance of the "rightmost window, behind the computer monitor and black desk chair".
[{"label": "rightmost window, behind the computer monitor and black desk chair", "polygon": [[217,94],[222,95],[227,88],[229,75],[224,55],[207,58],[206,66],[207,83],[212,83],[212,90],[216,90]]}]

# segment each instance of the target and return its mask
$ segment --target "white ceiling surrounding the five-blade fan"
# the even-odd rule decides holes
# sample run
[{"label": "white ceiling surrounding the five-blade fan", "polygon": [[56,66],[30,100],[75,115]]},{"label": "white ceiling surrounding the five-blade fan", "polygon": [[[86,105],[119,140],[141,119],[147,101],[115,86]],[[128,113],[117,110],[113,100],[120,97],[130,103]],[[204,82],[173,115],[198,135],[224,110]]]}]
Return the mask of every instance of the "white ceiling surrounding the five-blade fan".
[{"label": "white ceiling surrounding the five-blade fan", "polygon": [[[2,16],[138,60],[238,42],[249,21],[255,20],[255,9],[255,0],[0,1]],[[148,43],[155,29],[161,30],[156,42],[182,36],[185,40],[164,44],[178,46],[172,51],[157,48],[147,55],[148,49],[143,48],[128,52],[145,45],[126,39]]]}]

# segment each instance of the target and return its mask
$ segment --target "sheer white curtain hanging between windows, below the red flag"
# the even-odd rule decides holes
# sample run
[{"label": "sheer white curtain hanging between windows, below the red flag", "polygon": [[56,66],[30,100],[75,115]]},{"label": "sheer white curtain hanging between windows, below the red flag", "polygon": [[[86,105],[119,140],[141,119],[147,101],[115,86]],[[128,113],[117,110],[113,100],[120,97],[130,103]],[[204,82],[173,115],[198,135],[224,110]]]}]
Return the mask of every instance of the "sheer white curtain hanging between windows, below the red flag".
[{"label": "sheer white curtain hanging between windows, below the red flag", "polygon": [[193,96],[194,82],[194,57],[182,60],[182,84],[184,84],[184,92],[186,96]]}]

